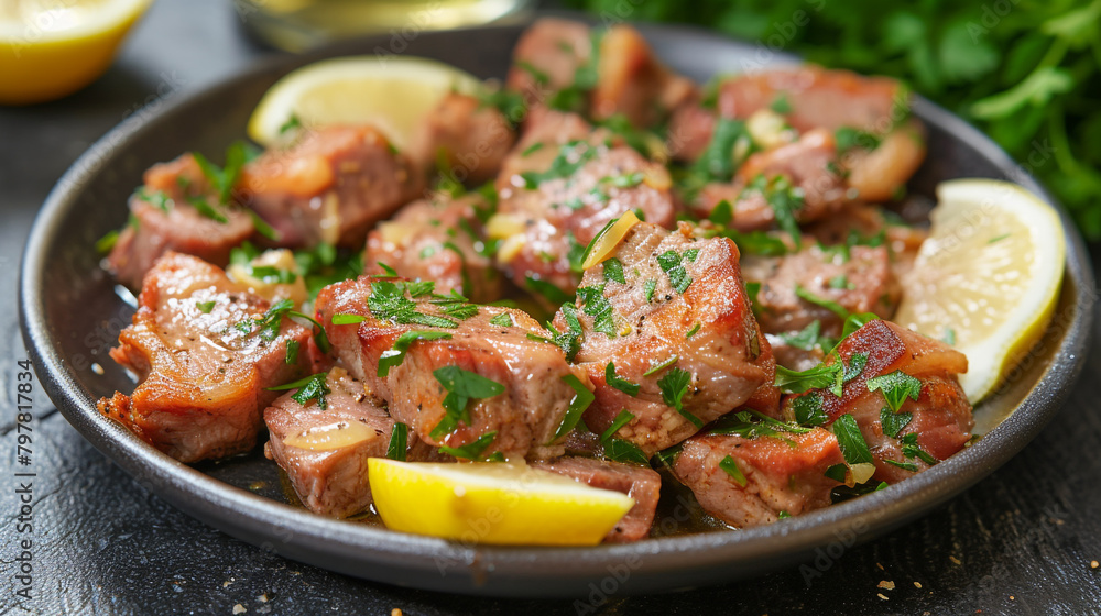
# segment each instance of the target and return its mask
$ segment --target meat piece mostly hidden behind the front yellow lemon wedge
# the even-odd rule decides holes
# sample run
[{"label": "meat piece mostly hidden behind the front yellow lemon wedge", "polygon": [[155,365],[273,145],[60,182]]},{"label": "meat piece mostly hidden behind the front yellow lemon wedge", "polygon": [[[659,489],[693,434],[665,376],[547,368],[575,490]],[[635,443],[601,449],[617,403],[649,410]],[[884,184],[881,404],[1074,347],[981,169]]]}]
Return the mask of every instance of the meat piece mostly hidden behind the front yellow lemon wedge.
[{"label": "meat piece mostly hidden behind the front yellow lemon wedge", "polygon": [[536,469],[565,475],[578,483],[622,492],[634,498],[634,507],[623,516],[604,541],[625,543],[637,541],[650,535],[657,513],[657,497],[662,492],[662,476],[653,469],[637,464],[623,464],[591,458],[559,458],[548,462],[532,464]]}]

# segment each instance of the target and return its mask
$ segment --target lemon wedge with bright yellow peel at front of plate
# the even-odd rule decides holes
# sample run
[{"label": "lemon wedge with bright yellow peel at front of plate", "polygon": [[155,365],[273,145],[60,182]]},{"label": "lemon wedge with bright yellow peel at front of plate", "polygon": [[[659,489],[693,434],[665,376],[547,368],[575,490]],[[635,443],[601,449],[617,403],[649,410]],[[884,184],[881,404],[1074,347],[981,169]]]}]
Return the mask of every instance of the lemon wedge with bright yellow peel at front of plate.
[{"label": "lemon wedge with bright yellow peel at front of plate", "polygon": [[368,461],[393,530],[467,543],[595,546],[634,499],[520,463]]}]

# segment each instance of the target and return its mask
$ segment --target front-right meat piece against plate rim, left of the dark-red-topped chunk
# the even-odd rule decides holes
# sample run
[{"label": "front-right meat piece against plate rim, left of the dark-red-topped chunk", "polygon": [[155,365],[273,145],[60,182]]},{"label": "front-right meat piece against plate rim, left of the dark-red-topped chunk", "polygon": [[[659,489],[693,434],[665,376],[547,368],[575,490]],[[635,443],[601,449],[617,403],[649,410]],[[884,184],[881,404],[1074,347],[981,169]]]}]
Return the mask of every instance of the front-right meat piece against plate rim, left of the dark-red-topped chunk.
[{"label": "front-right meat piece against plate rim, left of the dark-red-topped chunk", "polygon": [[738,528],[828,506],[830,491],[841,484],[824,473],[844,463],[837,437],[821,428],[781,437],[693,437],[673,463],[673,473],[704,510]]}]

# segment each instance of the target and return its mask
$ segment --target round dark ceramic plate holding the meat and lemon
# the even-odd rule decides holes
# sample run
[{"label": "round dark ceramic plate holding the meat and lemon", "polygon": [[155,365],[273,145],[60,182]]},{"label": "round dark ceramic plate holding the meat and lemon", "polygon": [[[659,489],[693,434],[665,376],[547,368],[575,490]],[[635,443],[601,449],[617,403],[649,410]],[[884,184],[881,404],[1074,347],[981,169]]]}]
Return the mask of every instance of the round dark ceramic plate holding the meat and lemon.
[{"label": "round dark ceramic plate holding the meat and lemon", "polygon": [[[521,29],[421,33],[403,53],[435,57],[479,77],[502,77]],[[642,26],[658,55],[705,80],[772,62],[764,46],[702,32]],[[261,95],[288,70],[326,56],[385,50],[364,38],[308,56],[281,57],[101,139],[62,178],[28,241],[21,278],[23,336],[39,377],[65,417],[155,494],[235,537],[291,559],[399,585],[488,595],[587,595],[592,588],[653,592],[760,574],[836,552],[925,514],[967,490],[1020,451],[1051,418],[1078,375],[1090,322],[1093,276],[1066,213],[1067,275],[1056,319],[1009,386],[975,409],[985,436],[966,451],[889,490],[744,531],[693,526],[691,507],[663,510],[662,537],[596,548],[472,547],[336,521],[288,504],[274,463],[259,453],[199,468],[179,464],[96,413],[94,400],[133,384],[107,358],[132,310],[99,268],[97,238],[123,223],[127,196],[151,164],[187,150],[220,152],[244,134]],[[918,100],[929,127],[929,156],[911,191],[931,196],[953,177],[1009,178],[1043,189],[989,139],[945,110]],[[674,504],[676,499],[673,498]]]}]

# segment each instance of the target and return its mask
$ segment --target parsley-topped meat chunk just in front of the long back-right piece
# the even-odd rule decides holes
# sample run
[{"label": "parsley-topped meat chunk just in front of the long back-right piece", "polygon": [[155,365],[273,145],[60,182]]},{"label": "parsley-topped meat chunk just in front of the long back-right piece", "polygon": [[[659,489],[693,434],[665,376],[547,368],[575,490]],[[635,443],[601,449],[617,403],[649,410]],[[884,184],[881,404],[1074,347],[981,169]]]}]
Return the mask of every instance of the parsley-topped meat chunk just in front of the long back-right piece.
[{"label": "parsley-topped meat chunk just in front of the long back-right piece", "polygon": [[708,216],[726,200],[733,207],[731,226],[740,231],[774,227],[777,197],[789,204],[785,207],[797,222],[828,218],[850,200],[836,160],[833,135],[810,131],[794,143],[751,155],[732,184],[706,185],[693,209]]}]

